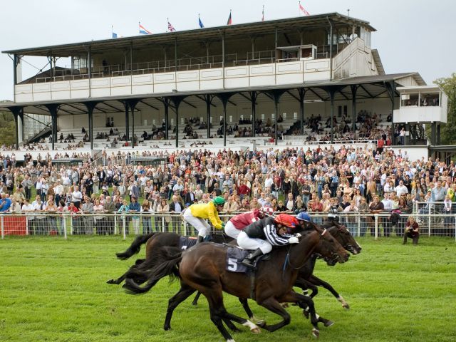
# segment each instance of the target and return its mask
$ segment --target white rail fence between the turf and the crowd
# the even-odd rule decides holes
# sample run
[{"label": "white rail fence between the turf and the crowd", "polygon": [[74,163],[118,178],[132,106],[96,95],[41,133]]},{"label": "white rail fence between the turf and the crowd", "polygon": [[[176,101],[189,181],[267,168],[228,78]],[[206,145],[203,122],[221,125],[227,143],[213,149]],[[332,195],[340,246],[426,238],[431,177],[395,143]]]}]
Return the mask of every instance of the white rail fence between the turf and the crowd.
[{"label": "white rail fence between the turf and the crowd", "polygon": [[[227,221],[233,215],[220,215]],[[456,239],[456,214],[340,214],[344,224],[354,237],[403,237],[405,224],[413,216],[420,226],[421,236],[452,237]],[[327,214],[312,213],[313,222],[321,224]],[[180,214],[1,214],[1,239],[9,236],[57,236],[68,235],[128,235],[151,232],[176,232],[196,235],[196,230],[182,220]],[[209,222],[210,224],[210,222]],[[212,228],[213,232],[217,229]]]}]

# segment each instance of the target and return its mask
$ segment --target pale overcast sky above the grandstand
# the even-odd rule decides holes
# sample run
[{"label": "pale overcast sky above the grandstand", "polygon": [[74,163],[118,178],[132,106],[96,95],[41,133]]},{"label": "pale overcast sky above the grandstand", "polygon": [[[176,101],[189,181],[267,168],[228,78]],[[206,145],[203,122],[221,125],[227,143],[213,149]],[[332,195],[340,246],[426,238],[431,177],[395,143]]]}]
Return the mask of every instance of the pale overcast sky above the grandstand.
[{"label": "pale overcast sky above the grandstand", "polygon": [[[177,31],[226,24],[232,10],[233,24],[284,19],[299,15],[294,0],[21,0],[3,1],[0,50],[33,48],[138,34],[138,21],[152,33],[165,32],[167,18]],[[369,21],[377,29],[377,48],[386,73],[418,71],[427,84],[456,72],[455,0],[306,0],[310,14],[338,12]],[[36,68],[46,61],[26,58]],[[37,69],[24,64],[24,78]],[[0,56],[0,100],[13,98],[13,63]]]}]

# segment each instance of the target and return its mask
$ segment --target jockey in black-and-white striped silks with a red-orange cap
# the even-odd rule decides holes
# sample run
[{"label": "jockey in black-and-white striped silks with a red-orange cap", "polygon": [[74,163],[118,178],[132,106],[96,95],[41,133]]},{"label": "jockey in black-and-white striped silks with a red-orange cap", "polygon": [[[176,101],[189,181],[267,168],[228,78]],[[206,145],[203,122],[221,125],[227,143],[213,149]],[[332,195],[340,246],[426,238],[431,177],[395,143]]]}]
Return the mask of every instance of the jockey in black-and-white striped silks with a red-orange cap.
[{"label": "jockey in black-and-white striped silks with a red-orange cap", "polygon": [[253,267],[254,259],[271,252],[272,246],[299,243],[301,234],[291,236],[289,233],[299,224],[298,220],[289,214],[279,214],[274,217],[265,217],[249,224],[237,237],[237,244],[242,249],[254,250],[242,264]]}]

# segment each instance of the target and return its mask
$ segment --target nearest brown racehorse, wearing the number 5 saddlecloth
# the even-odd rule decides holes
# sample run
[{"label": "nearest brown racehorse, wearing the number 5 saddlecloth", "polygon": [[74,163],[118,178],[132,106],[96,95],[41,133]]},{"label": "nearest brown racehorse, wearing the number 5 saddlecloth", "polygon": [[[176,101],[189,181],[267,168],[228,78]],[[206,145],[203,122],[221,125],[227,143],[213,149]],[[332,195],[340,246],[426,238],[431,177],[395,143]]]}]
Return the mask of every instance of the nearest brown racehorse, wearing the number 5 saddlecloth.
[{"label": "nearest brown racehorse, wearing the number 5 saddlecloth", "polygon": [[[130,294],[142,294],[149,291],[157,281],[167,275],[178,276],[181,289],[170,299],[165,320],[165,329],[170,328],[172,311],[192,293],[202,292],[209,302],[212,322],[217,326],[226,341],[232,341],[222,321],[233,328],[234,321],[249,326],[254,332],[259,327],[251,321],[229,314],[224,308],[222,291],[238,298],[252,298],[264,308],[279,314],[283,320],[272,326],[262,325],[268,331],[276,331],[289,324],[290,315],[282,308],[281,302],[298,304],[302,309],[309,307],[312,333],[318,336],[318,319],[315,313],[314,301],[308,296],[298,294],[292,287],[296,281],[298,270],[304,266],[313,252],[320,254],[328,264],[345,262],[349,254],[336,239],[328,234],[326,229],[320,229],[311,224],[315,230],[303,232],[299,243],[293,246],[275,248],[270,253],[267,262],[259,262],[254,281],[247,274],[232,273],[226,270],[227,247],[221,244],[202,243],[185,252],[172,247],[164,247],[158,255],[158,262],[150,267],[147,260],[134,269],[130,269],[124,287]],[[148,258],[149,259],[149,258]],[[178,266],[178,268],[177,268]],[[147,278],[143,287],[135,283],[135,279]],[[251,289],[251,284],[254,284]],[[235,327],[234,327],[235,328]]]}]

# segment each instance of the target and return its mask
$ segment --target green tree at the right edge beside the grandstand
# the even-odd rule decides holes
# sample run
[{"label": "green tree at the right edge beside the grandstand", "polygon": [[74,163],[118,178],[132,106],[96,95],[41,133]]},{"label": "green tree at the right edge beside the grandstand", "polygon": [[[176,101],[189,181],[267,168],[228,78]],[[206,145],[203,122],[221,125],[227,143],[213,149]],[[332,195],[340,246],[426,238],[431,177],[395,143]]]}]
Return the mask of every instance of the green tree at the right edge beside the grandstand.
[{"label": "green tree at the right edge beside the grandstand", "polygon": [[434,83],[445,91],[448,96],[447,123],[440,130],[442,145],[456,144],[456,73],[448,78],[438,78]]}]

